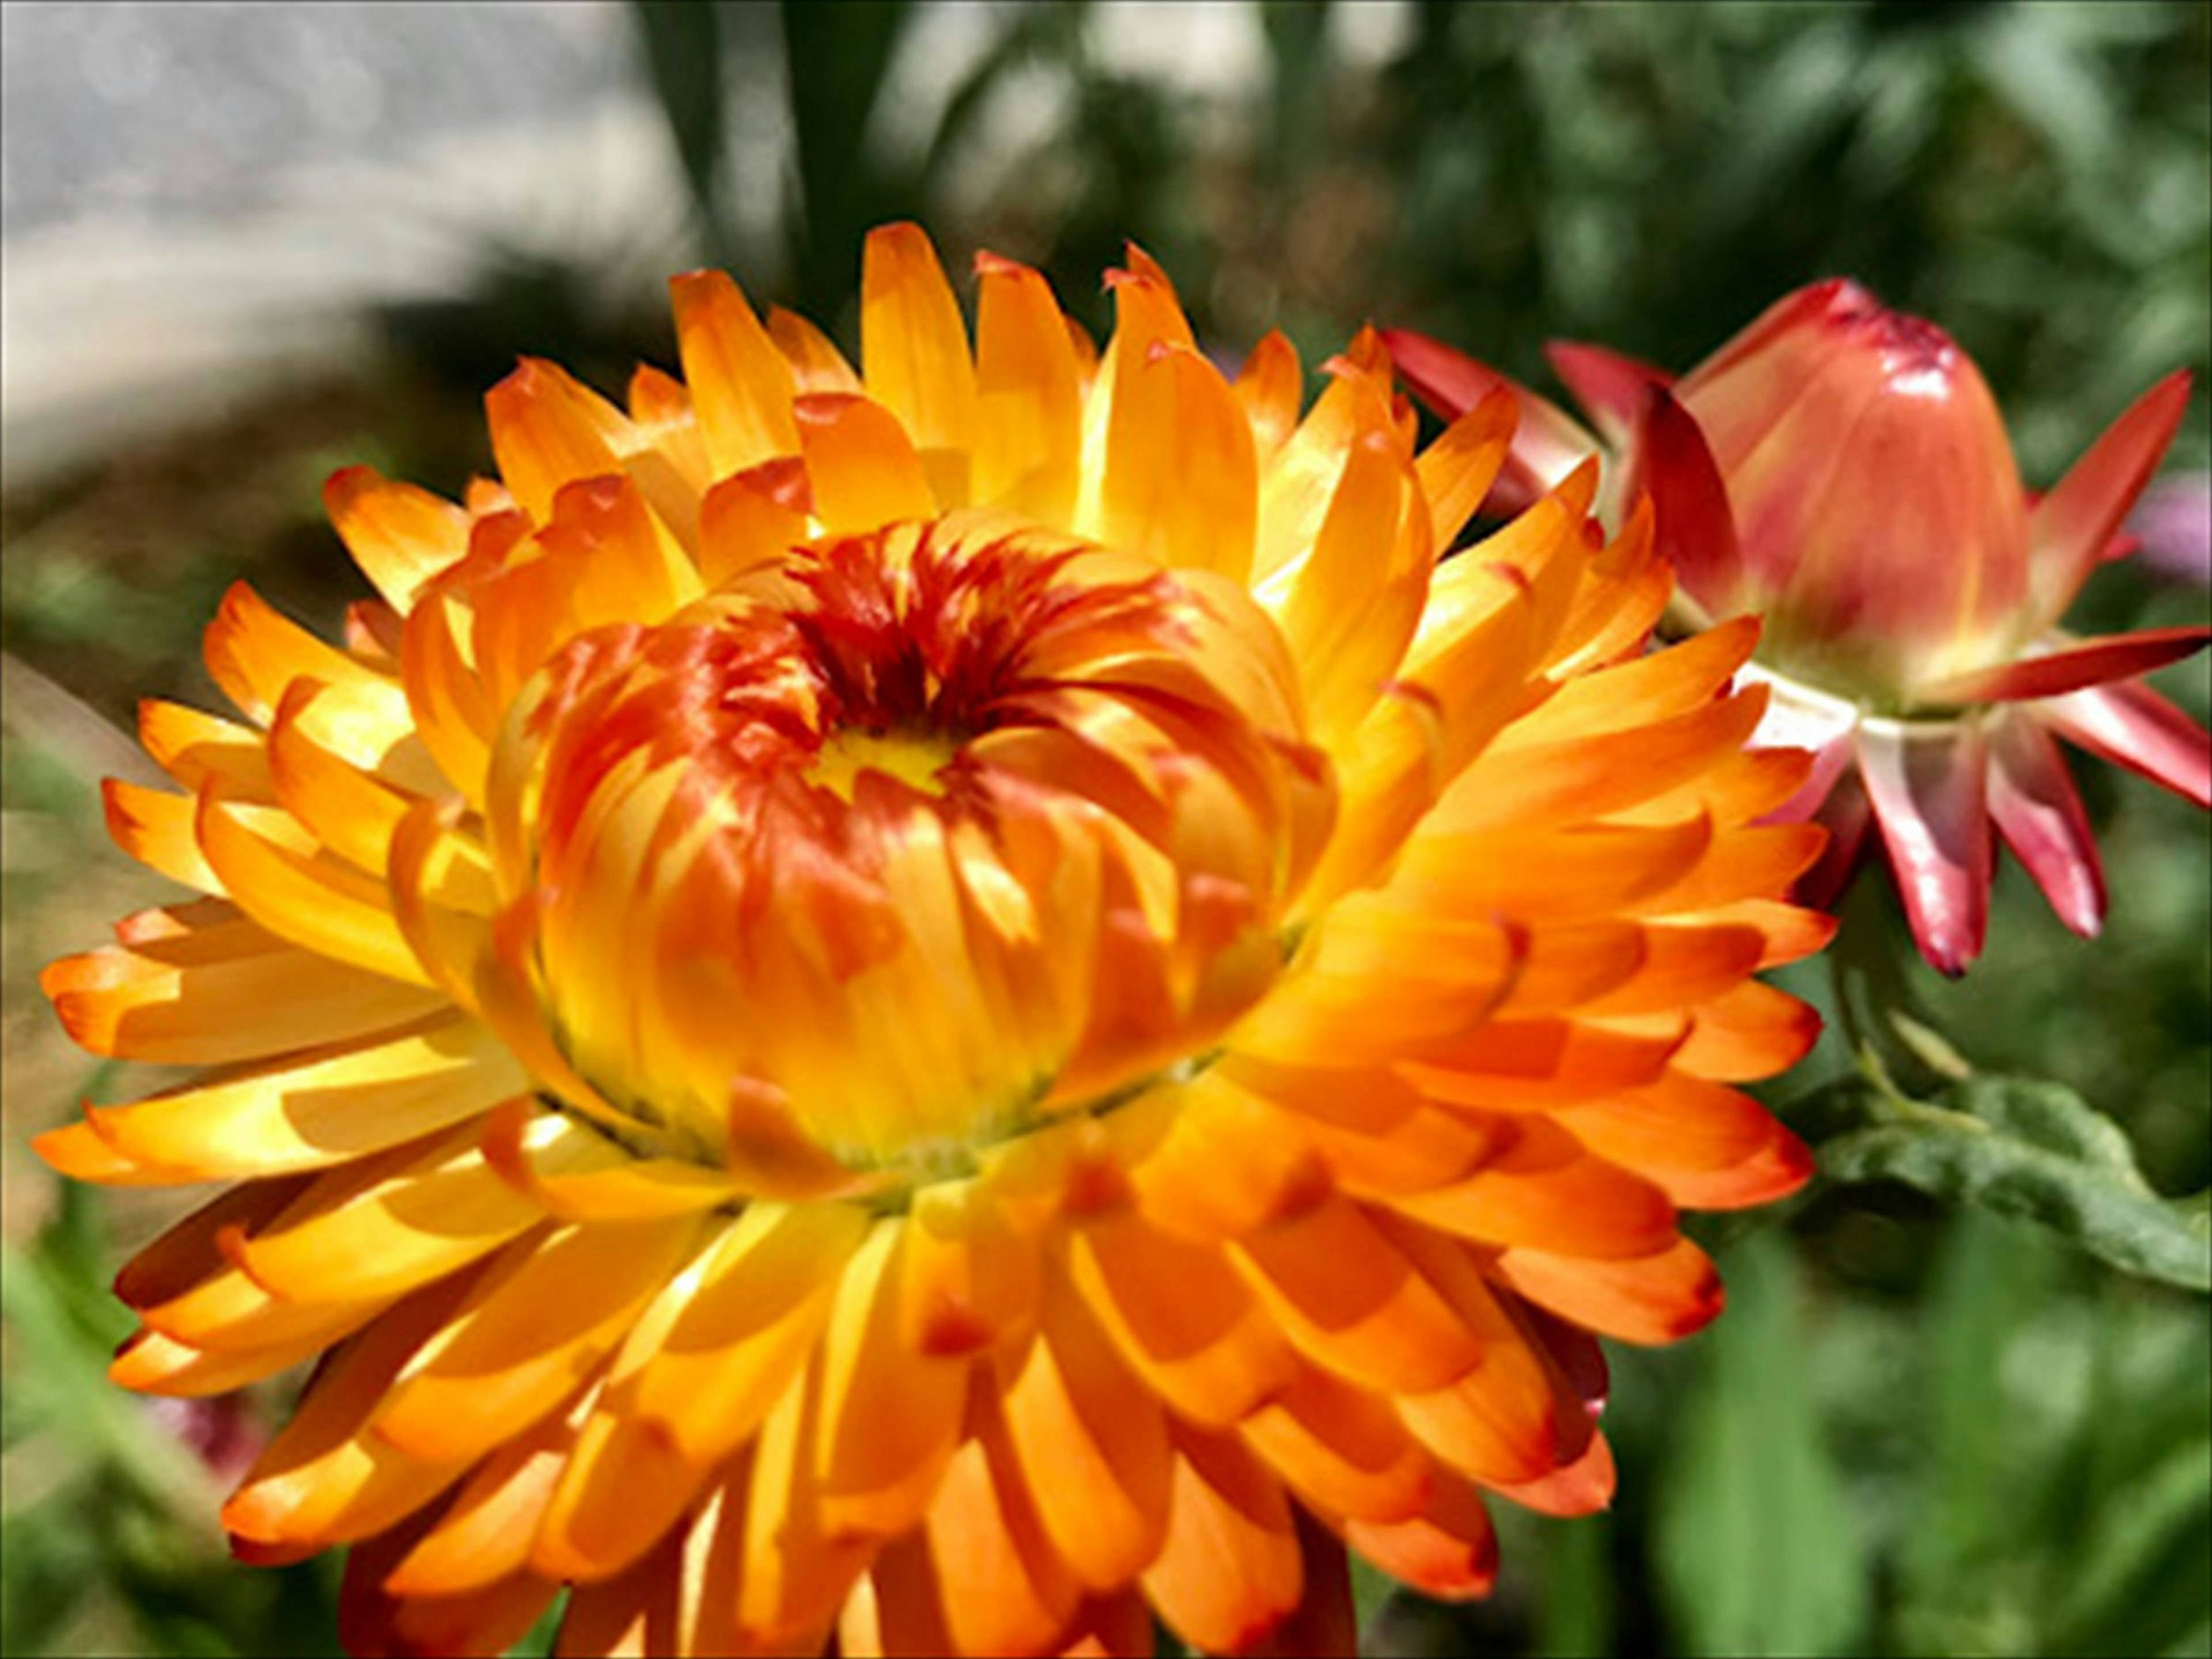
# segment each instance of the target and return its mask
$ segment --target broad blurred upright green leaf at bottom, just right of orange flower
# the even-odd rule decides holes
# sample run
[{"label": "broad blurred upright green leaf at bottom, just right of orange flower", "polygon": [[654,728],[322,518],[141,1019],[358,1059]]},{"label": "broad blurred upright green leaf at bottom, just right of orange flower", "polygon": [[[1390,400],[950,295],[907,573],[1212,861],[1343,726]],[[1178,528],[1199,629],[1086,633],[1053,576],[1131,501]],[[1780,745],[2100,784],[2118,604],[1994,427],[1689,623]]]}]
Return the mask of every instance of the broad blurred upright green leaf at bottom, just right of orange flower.
[{"label": "broad blurred upright green leaf at bottom, just right of orange flower", "polygon": [[1655,1544],[1674,1646],[1860,1652],[1863,1546],[1820,1438],[1796,1274],[1778,1239],[1730,1254],[1728,1303],[1659,1486]]}]

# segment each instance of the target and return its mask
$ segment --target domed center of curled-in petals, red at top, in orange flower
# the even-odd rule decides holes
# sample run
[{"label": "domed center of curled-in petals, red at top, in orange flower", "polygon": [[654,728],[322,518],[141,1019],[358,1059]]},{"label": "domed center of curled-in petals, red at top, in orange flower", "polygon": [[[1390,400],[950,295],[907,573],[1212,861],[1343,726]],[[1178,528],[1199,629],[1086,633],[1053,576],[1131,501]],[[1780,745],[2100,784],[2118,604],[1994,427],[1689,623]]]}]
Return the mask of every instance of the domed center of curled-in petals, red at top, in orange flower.
[{"label": "domed center of curled-in petals, red at top, in orange flower", "polygon": [[1334,810],[1232,588],[894,526],[604,628],[509,717],[526,971],[608,1106],[911,1177],[1201,1053]]}]

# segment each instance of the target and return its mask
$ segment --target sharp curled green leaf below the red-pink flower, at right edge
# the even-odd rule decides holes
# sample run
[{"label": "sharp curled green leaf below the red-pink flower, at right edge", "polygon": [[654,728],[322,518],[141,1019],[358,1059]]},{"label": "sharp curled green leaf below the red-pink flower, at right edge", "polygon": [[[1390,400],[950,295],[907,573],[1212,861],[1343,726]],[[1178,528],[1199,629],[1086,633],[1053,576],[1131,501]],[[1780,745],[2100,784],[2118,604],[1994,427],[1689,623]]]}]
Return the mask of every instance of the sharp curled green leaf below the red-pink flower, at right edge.
[{"label": "sharp curled green leaf below the red-pink flower, at right edge", "polygon": [[2146,1279],[2212,1290],[2212,1239],[2192,1225],[2190,1210],[2152,1192],[2128,1137],[2070,1088],[1966,1077],[1936,1104],[1865,1104],[1885,1121],[1820,1146],[1832,1181],[1902,1181],[2037,1221]]}]

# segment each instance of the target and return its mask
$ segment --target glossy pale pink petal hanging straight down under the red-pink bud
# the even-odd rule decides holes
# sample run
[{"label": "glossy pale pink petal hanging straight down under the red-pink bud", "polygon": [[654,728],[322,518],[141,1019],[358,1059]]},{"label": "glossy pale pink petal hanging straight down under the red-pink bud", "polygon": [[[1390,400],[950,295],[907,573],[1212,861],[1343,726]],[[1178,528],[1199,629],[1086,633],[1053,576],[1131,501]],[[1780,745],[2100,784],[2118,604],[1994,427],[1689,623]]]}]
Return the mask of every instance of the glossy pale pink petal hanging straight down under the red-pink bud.
[{"label": "glossy pale pink petal hanging straight down under the red-pink bud", "polygon": [[1933,969],[1960,975],[1989,931],[1989,748],[1978,723],[1865,721],[1858,774]]}]

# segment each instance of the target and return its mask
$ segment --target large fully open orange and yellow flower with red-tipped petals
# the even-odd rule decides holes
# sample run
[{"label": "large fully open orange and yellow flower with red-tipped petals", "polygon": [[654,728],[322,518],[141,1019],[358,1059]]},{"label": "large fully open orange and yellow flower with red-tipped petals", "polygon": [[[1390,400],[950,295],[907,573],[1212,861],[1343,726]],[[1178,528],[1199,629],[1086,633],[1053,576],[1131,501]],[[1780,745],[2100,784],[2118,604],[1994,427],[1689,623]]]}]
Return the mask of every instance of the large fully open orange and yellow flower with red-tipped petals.
[{"label": "large fully open orange and yellow flower with red-tipped petals", "polygon": [[573,1584],[564,1652],[1340,1652],[1343,1544],[1478,1595],[1482,1491],[1606,1502],[1593,1334],[1803,1181],[1728,1086],[1827,931],[1752,630],[1646,657],[1588,469],[1438,564],[1504,400],[1416,456],[1363,334],[1301,420],[1130,263],[1095,361],[984,257],[971,352],[880,230],[865,374],[677,279],[688,389],[531,363],[465,507],[338,473],[383,602],[239,588],[243,723],[146,708],[115,836],[208,898],[46,989],[215,1071],[40,1146],[234,1181],[115,1376],[325,1356],[223,1520],[352,1544],[354,1650]]}]

